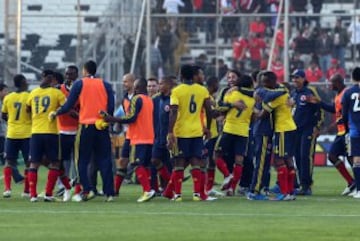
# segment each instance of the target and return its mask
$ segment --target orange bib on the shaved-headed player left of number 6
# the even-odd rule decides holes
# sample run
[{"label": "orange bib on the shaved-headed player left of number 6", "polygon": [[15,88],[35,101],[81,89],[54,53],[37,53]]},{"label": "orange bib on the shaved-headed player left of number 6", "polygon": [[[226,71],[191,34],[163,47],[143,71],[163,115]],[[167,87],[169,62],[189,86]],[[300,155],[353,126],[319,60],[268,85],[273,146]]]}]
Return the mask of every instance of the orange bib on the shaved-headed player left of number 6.
[{"label": "orange bib on the shaved-headed player left of number 6", "polygon": [[131,100],[132,103],[136,103],[136,98],[141,98],[142,107],[135,122],[129,124],[130,144],[154,144],[153,100],[142,94],[133,98],[135,99]]}]

